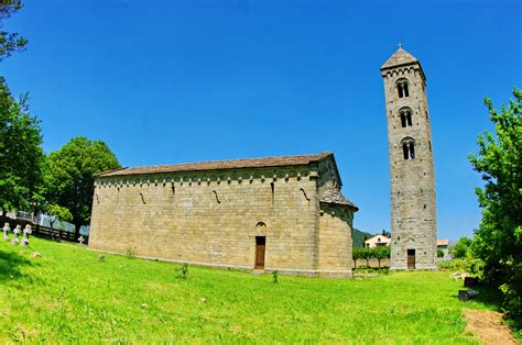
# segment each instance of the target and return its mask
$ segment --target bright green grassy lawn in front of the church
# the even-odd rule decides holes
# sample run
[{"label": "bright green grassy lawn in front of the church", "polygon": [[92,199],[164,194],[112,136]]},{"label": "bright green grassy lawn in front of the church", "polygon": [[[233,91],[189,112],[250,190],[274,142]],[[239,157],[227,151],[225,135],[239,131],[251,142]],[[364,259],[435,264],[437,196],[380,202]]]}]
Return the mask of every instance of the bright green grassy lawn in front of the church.
[{"label": "bright green grassy lawn in front of the church", "polygon": [[[32,254],[39,252],[40,258]],[[476,343],[448,272],[314,279],[0,242],[0,343]],[[202,302],[200,299],[206,299]],[[143,304],[145,303],[145,304]]]}]

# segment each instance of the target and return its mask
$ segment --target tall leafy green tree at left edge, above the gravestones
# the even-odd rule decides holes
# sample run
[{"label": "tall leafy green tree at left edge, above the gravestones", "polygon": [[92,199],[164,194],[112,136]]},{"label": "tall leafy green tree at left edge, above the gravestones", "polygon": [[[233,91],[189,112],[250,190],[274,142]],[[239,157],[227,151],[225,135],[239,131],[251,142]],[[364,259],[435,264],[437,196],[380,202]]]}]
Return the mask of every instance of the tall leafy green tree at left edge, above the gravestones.
[{"label": "tall leafy green tree at left edge, above the gravestones", "polygon": [[28,97],[17,101],[0,77],[0,207],[35,208],[42,202],[44,153],[40,121],[29,114]]}]

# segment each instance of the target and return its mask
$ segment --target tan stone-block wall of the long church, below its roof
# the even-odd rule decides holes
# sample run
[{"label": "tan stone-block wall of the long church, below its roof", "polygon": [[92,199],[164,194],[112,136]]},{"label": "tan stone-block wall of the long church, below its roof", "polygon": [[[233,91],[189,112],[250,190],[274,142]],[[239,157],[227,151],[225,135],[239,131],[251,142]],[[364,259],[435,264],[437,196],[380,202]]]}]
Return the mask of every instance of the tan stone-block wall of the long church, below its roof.
[{"label": "tan stone-block wall of the long church, below its roof", "polygon": [[[309,166],[98,178],[95,187],[91,249],[251,269],[255,236],[265,236],[267,270],[351,272],[351,241],[336,244],[337,264],[320,261],[317,172]],[[334,243],[336,230],[323,237]]]}]

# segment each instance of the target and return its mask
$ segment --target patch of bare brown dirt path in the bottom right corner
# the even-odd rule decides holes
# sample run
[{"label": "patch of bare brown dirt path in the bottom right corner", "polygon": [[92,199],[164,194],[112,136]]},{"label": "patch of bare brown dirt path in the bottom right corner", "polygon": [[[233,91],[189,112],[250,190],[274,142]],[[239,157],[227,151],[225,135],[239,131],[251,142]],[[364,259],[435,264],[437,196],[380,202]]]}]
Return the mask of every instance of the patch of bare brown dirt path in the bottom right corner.
[{"label": "patch of bare brown dirt path in the bottom right corner", "polygon": [[509,327],[501,321],[502,314],[490,310],[464,310],[466,330],[486,344],[518,344]]}]

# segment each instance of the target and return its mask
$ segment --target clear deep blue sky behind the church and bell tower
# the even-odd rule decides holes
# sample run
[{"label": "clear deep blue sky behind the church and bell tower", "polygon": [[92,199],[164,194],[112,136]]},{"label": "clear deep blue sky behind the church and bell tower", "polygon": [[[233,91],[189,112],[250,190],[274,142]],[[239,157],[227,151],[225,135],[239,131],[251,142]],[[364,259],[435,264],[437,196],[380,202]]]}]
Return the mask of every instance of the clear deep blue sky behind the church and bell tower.
[{"label": "clear deep blue sky behind the church and bell tower", "polygon": [[379,67],[399,42],[427,77],[438,235],[470,235],[491,129],[522,87],[521,1],[30,1],[0,64],[44,149],[105,141],[123,166],[334,152],[355,226],[390,229]]}]

